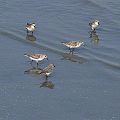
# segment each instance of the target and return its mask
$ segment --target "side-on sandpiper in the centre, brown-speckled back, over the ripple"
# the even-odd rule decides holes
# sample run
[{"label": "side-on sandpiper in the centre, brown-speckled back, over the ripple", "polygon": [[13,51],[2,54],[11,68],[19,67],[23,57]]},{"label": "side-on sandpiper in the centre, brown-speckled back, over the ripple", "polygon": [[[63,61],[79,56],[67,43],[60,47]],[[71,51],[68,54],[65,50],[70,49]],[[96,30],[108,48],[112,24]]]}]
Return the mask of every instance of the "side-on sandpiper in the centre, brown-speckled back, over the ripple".
[{"label": "side-on sandpiper in the centre, brown-speckled back, over the ripple", "polygon": [[74,51],[74,48],[78,48],[81,45],[84,45],[84,42],[81,41],[68,41],[68,42],[62,42],[63,45],[69,48],[70,52]]}]

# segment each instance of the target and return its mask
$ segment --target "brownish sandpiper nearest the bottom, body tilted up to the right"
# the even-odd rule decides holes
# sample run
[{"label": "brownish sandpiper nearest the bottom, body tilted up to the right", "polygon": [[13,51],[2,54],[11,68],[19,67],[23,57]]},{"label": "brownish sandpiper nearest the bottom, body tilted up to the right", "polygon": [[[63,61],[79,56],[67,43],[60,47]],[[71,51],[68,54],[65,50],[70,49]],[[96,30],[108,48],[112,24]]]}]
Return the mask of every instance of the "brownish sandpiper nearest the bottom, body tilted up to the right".
[{"label": "brownish sandpiper nearest the bottom, body tilted up to the right", "polygon": [[48,76],[53,72],[55,65],[54,64],[49,64],[47,67],[45,67],[40,74],[43,74],[46,76],[46,79]]}]

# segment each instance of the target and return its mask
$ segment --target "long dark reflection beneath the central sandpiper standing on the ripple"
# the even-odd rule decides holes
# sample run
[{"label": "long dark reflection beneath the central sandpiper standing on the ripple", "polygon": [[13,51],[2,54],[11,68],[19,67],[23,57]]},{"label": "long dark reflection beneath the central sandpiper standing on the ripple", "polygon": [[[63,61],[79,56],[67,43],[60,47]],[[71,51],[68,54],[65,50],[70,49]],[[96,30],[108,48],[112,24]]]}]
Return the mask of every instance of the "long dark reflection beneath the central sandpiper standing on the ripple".
[{"label": "long dark reflection beneath the central sandpiper standing on the ripple", "polygon": [[62,56],[63,58],[61,60],[69,60],[71,62],[77,62],[79,64],[86,62],[85,58],[75,55],[73,51],[70,51],[69,53],[64,53]]}]

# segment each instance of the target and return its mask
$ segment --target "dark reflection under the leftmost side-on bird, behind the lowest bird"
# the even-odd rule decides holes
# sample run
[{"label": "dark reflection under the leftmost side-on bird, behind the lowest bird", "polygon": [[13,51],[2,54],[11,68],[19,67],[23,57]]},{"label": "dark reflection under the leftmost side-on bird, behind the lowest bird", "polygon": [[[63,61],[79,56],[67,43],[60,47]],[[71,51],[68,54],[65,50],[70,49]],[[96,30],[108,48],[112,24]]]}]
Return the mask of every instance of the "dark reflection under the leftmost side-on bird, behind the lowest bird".
[{"label": "dark reflection under the leftmost side-on bird, behind the lowest bird", "polygon": [[41,72],[42,72],[41,68],[32,67],[32,68],[24,71],[24,74],[36,74],[36,75],[40,75]]}]

